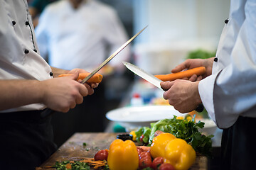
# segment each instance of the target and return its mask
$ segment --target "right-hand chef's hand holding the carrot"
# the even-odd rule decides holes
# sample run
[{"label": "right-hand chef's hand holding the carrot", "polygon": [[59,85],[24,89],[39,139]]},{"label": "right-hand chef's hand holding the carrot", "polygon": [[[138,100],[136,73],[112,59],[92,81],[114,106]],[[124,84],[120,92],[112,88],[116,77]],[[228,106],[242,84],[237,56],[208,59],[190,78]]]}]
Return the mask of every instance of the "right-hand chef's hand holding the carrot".
[{"label": "right-hand chef's hand holding the carrot", "polygon": [[176,73],[181,72],[184,69],[193,69],[195,67],[201,66],[206,67],[205,74],[201,76],[196,76],[196,74],[193,74],[193,76],[189,78],[190,81],[200,81],[201,79],[204,79],[211,75],[213,69],[213,59],[214,57],[208,59],[188,59],[185,62],[178,64],[174,69],[171,70],[171,72]]}]

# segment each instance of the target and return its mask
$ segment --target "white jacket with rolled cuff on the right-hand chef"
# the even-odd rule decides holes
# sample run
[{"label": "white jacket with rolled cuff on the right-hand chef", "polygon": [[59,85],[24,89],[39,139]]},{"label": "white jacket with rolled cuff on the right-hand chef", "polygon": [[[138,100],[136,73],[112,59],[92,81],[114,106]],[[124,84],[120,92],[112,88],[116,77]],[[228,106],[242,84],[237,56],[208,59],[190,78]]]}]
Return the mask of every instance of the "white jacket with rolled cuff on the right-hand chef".
[{"label": "white jacket with rolled cuff on the right-hand chef", "polygon": [[256,118],[256,1],[233,0],[210,77],[198,90],[210,118],[229,128],[238,116]]}]

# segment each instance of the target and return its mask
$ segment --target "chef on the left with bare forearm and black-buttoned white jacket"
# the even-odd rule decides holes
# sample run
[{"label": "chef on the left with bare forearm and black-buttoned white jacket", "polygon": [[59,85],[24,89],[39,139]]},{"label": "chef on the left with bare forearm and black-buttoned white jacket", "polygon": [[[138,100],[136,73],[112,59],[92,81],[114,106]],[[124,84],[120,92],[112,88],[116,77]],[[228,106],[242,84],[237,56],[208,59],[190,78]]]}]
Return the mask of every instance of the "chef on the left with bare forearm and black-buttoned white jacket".
[{"label": "chef on the left with bare forearm and black-buttoned white jacket", "polygon": [[[26,1],[0,1],[0,20],[0,169],[32,170],[57,149],[44,109],[68,112],[98,84],[80,84],[84,69],[50,67],[40,56]],[[53,78],[64,73],[73,75]]]}]

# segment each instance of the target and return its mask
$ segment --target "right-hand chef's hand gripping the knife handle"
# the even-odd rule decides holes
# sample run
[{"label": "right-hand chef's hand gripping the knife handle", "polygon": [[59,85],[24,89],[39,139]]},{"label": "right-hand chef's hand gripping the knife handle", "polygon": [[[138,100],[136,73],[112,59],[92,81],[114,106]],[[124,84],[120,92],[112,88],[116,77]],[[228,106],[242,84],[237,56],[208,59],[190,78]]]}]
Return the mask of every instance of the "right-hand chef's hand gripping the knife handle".
[{"label": "right-hand chef's hand gripping the knife handle", "polygon": [[191,112],[202,103],[198,83],[199,81],[191,82],[182,79],[161,82],[161,88],[165,91],[164,99],[169,100],[169,104],[181,113]]}]

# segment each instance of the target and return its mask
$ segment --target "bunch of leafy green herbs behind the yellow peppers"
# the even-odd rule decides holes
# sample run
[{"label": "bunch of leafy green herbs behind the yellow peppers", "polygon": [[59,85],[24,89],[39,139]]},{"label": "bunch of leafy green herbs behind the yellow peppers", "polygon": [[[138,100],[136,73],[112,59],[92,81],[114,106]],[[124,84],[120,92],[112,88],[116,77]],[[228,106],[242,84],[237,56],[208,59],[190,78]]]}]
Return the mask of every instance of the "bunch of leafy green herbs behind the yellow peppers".
[{"label": "bunch of leafy green herbs behind the yellow peppers", "polygon": [[[213,137],[213,135],[206,136],[198,131],[199,128],[204,127],[204,123],[201,121],[195,123],[194,118],[191,121],[176,119],[176,117],[177,116],[174,115],[174,118],[172,119],[164,119],[159,120],[156,123],[151,123],[151,132],[148,141],[149,146],[151,145],[154,138],[154,132],[156,132],[156,130],[161,130],[162,132],[169,132],[177,138],[186,140],[186,142],[188,142],[188,144],[190,144],[196,152],[210,157],[212,151],[212,142],[210,139]],[[144,128],[139,128],[139,130],[137,130],[135,134],[141,134],[142,132],[144,132],[143,129]],[[148,133],[148,131],[149,130],[147,130],[146,132]],[[139,137],[137,136],[137,141]]]}]

